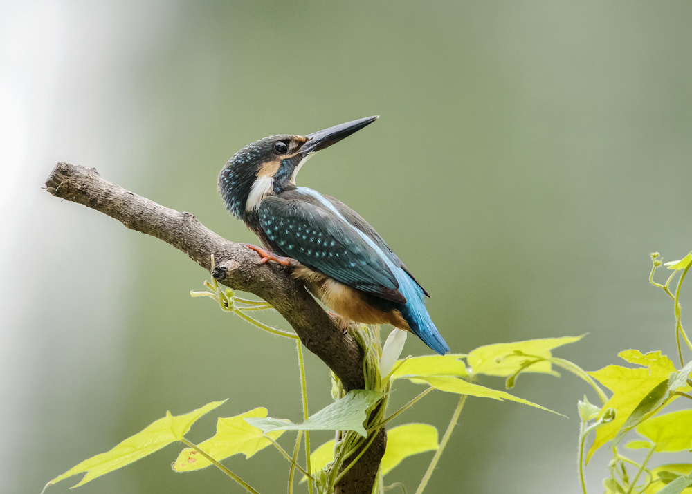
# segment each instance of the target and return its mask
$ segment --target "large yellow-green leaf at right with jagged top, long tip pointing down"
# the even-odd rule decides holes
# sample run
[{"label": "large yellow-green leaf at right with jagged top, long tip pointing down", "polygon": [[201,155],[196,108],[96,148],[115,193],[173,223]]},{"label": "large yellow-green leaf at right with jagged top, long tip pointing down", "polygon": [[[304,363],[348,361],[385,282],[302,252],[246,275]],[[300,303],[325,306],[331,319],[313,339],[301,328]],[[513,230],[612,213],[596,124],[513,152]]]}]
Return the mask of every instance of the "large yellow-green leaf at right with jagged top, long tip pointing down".
[{"label": "large yellow-green leaf at right with jagged top, long tip pointing down", "polygon": [[612,397],[601,408],[599,417],[605,410],[613,408],[615,418],[596,429],[594,442],[586,455],[588,462],[594,452],[617,435],[620,428],[626,423],[628,417],[657,386],[668,381],[675,365],[661,352],[649,352],[642,354],[639,350],[625,350],[619,353],[619,357],[646,368],[632,369],[621,365],[608,365],[607,367],[588,374],[597,379],[603,386],[612,391]]}]

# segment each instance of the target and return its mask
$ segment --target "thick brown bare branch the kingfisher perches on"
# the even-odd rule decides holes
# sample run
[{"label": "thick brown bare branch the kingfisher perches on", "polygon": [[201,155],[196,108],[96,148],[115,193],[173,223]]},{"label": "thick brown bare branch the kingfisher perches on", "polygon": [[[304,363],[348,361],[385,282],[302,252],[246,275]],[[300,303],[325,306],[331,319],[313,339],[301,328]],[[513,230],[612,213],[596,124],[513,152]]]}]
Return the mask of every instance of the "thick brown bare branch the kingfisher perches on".
[{"label": "thick brown bare branch the kingfisher perches on", "polygon": [[[46,180],[55,197],[77,202],[120,221],[129,229],[149,234],[183,251],[231,289],[263,298],[293,327],[303,345],[339,377],[345,390],[362,389],[363,350],[349,334],[295,281],[288,268],[258,264],[260,257],[244,244],[230,242],[206,228],[192,214],[176,211],[127,191],[100,177],[93,168],[58,163]],[[384,454],[384,429],[336,487],[340,493],[370,493]],[[357,468],[356,468],[357,467]]]}]

